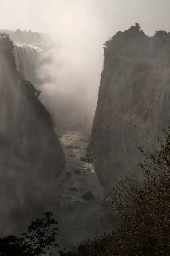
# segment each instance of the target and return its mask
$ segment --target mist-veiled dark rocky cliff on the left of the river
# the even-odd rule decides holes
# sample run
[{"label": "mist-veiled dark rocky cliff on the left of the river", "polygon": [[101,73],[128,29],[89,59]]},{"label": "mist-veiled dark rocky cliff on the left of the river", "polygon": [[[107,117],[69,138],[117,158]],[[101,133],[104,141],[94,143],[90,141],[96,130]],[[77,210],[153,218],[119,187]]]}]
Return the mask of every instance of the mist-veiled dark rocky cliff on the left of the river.
[{"label": "mist-veiled dark rocky cliff on the left of the river", "polygon": [[1,233],[22,229],[47,210],[64,153],[40,92],[16,71],[13,44],[0,34]]}]

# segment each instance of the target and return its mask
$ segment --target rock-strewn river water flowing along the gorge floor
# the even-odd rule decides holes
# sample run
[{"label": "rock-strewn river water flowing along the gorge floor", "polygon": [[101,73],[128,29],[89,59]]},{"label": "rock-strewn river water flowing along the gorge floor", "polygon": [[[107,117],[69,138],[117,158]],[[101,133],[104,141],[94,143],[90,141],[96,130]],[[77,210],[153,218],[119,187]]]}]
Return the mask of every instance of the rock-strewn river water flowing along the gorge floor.
[{"label": "rock-strewn river water flowing along the gorge floor", "polygon": [[[61,177],[55,182],[60,193],[60,221],[58,221],[58,243],[69,248],[85,238],[92,238],[95,233],[112,230],[107,212],[102,207],[104,189],[98,181],[94,166],[79,160],[86,154],[87,142],[78,131],[56,131],[60,135],[60,143],[65,151],[66,166]],[[80,148],[67,148],[68,145]],[[80,174],[75,173],[75,168]],[[70,172],[71,176],[66,177]],[[70,191],[75,187],[78,191]],[[82,196],[91,191],[94,199],[85,201]]]}]

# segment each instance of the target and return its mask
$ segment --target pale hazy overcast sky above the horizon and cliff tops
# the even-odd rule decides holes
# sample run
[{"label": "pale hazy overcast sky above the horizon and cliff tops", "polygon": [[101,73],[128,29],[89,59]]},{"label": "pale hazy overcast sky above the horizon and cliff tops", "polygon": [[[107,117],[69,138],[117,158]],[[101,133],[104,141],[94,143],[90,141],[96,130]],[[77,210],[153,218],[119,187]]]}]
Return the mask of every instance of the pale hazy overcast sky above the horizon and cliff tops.
[{"label": "pale hazy overcast sky above the horizon and cliff tops", "polygon": [[147,34],[170,30],[170,0],[0,0],[1,29],[58,33],[98,28],[112,36],[135,22]]}]

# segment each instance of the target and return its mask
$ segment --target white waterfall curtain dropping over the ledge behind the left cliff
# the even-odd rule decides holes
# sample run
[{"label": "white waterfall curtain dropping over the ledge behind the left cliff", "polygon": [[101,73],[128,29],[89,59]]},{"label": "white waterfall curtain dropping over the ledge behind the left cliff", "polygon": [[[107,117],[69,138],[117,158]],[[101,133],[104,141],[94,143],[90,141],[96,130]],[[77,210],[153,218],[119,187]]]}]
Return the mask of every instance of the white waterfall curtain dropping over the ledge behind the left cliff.
[{"label": "white waterfall curtain dropping over the ledge behind the left cliff", "polygon": [[17,71],[34,85],[37,84],[36,70],[41,51],[43,50],[35,44],[14,43]]}]

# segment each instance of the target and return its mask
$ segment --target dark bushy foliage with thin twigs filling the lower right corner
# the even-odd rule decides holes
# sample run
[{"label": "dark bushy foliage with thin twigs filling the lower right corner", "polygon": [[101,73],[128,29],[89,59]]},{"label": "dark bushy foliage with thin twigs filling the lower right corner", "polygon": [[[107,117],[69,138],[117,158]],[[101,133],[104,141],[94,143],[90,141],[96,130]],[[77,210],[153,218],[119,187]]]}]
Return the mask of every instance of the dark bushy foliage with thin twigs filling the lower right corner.
[{"label": "dark bushy foliage with thin twigs filling the lower right corner", "polygon": [[[117,229],[72,246],[65,256],[168,256],[170,255],[170,123],[158,137],[159,150],[145,153],[139,164],[144,180],[130,175],[116,183],[104,208],[120,219]],[[62,255],[62,254],[61,254]]]}]

